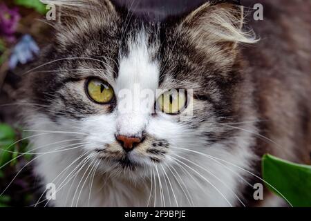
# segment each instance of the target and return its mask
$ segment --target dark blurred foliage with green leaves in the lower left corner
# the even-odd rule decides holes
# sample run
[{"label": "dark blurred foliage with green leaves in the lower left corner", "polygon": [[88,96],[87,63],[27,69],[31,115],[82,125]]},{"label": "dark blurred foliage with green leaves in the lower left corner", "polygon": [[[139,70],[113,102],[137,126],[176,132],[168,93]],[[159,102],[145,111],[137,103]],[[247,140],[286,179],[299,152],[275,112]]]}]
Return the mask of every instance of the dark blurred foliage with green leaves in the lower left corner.
[{"label": "dark blurred foliage with green leaves in the lower left corner", "polygon": [[28,140],[21,137],[19,128],[0,124],[0,206],[30,205],[36,198]]}]

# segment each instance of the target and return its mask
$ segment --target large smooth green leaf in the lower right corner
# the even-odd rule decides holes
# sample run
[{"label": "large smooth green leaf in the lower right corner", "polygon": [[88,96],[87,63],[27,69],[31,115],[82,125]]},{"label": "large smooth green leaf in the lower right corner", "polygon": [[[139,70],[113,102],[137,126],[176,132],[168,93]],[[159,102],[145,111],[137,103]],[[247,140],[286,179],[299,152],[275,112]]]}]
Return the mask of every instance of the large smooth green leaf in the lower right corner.
[{"label": "large smooth green leaf in the lower right corner", "polygon": [[264,155],[262,167],[263,180],[270,191],[283,197],[292,206],[311,206],[311,166]]}]

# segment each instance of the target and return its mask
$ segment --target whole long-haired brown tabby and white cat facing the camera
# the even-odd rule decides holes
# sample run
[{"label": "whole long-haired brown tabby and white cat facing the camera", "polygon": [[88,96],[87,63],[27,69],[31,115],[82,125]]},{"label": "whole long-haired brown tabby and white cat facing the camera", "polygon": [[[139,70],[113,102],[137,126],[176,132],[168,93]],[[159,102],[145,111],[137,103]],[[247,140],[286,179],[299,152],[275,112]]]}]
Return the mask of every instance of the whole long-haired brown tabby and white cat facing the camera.
[{"label": "whole long-haired brown tabby and white cat facing the camera", "polygon": [[62,21],[21,90],[35,172],[55,185],[36,206],[288,206],[254,200],[253,185],[265,153],[310,163],[302,16],[282,23],[283,2],[261,1],[271,11],[252,31],[226,1],[161,21],[109,0],[46,2]]}]

